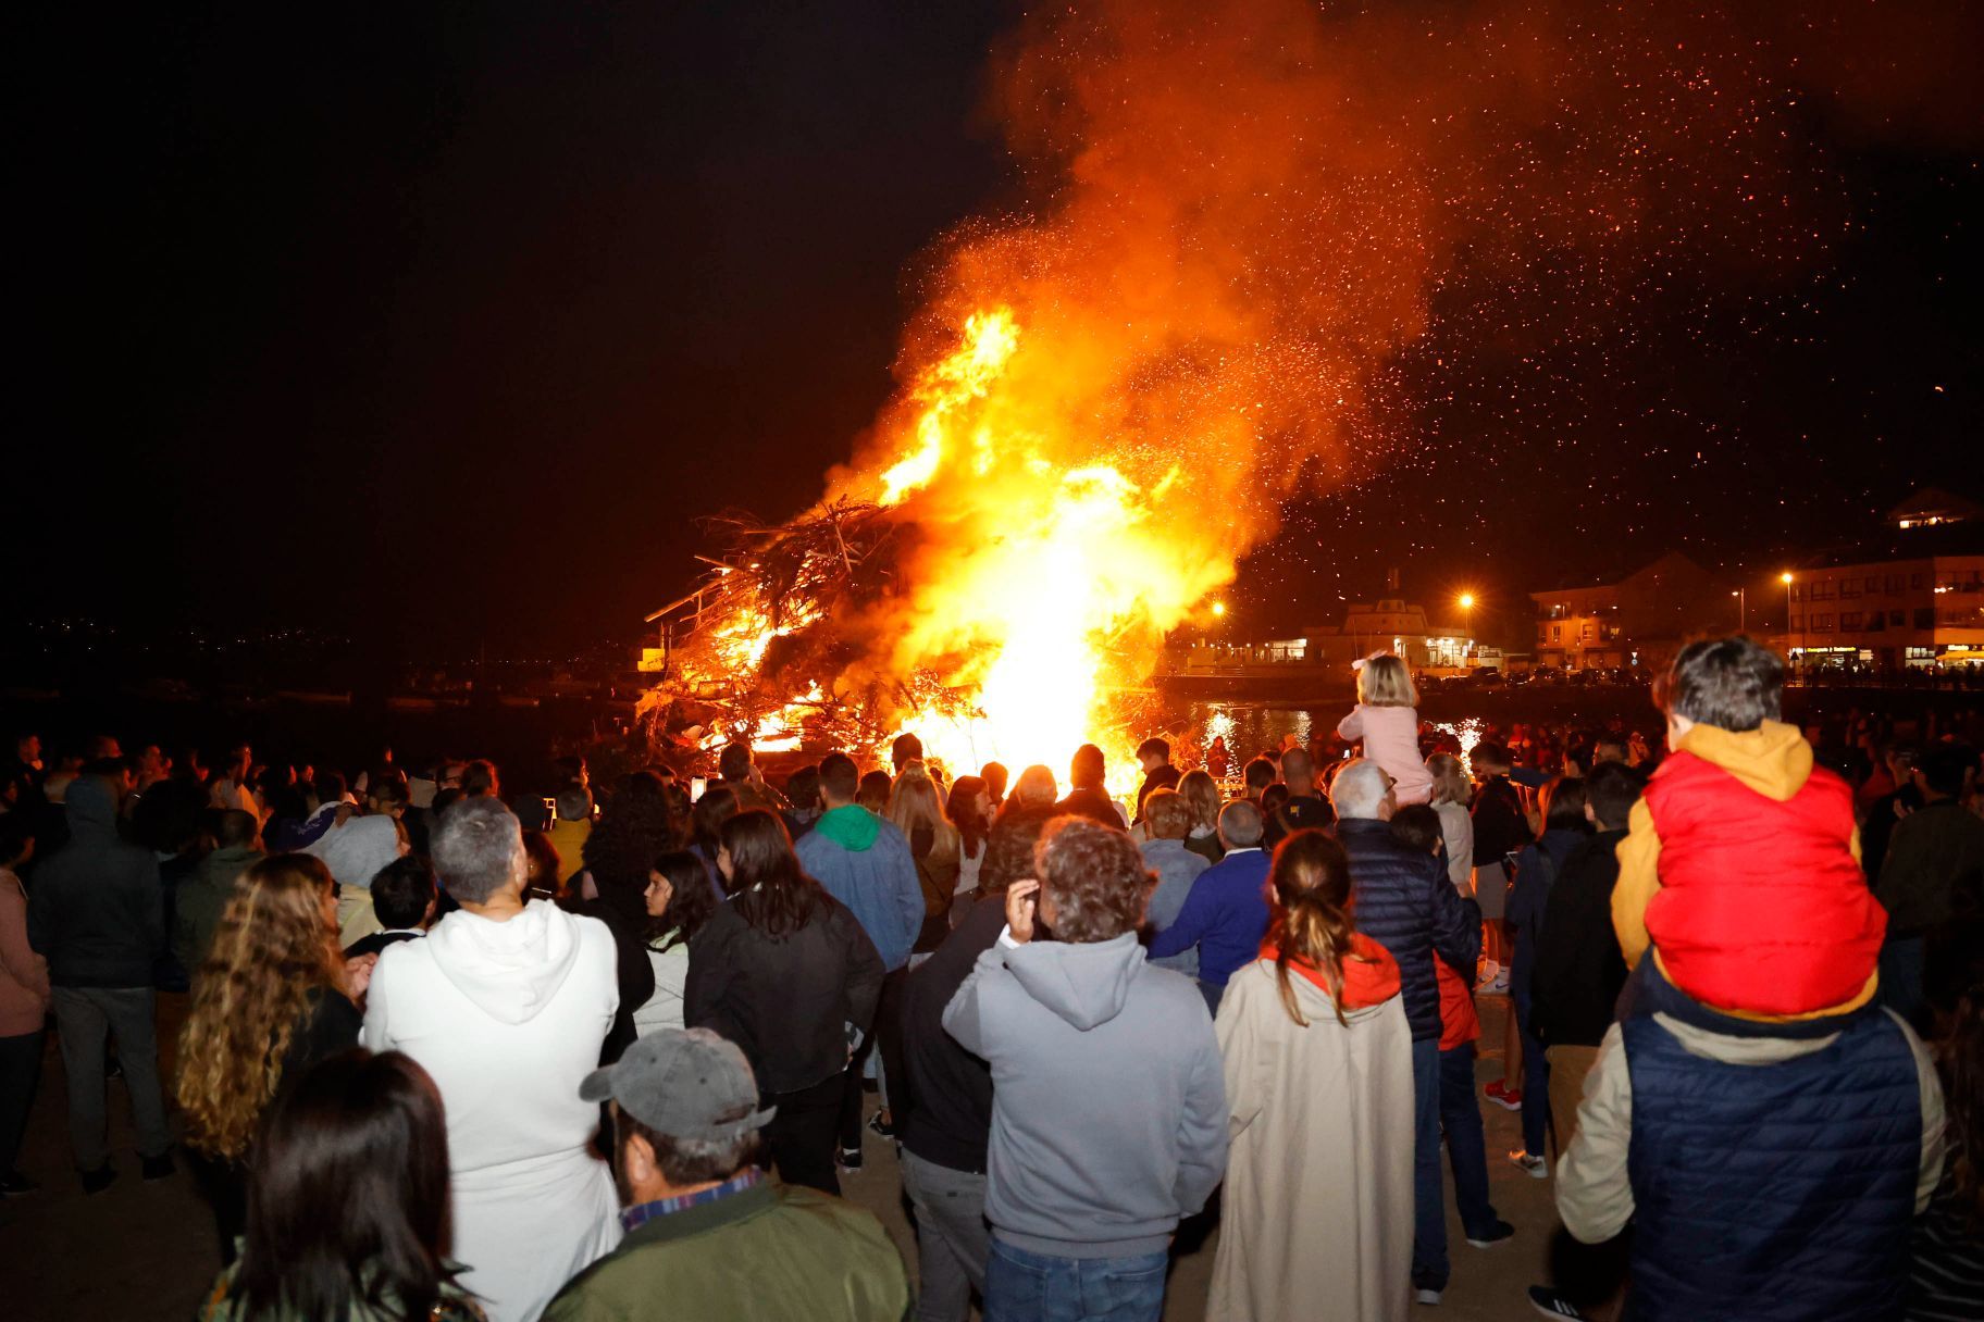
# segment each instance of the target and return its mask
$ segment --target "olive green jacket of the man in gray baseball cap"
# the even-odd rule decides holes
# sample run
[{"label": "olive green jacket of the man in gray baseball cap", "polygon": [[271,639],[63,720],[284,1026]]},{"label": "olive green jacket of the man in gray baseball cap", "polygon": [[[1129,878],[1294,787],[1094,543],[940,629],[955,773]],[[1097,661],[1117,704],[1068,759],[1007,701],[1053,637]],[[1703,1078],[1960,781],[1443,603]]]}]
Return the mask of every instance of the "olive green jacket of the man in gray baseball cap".
[{"label": "olive green jacket of the man in gray baseball cap", "polygon": [[544,1322],[901,1322],[909,1304],[903,1259],[873,1215],[766,1179],[635,1227]]}]

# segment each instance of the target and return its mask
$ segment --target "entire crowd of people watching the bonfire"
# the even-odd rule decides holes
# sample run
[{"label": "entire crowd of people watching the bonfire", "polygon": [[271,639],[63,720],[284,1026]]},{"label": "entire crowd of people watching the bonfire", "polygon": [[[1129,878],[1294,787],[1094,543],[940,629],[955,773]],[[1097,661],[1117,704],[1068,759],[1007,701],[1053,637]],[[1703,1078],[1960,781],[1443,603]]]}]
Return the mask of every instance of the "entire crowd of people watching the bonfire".
[{"label": "entire crowd of people watching the bonfire", "polygon": [[[1984,1316],[1984,797],[1962,731],[1782,719],[1690,644],[1655,731],[1419,719],[1109,791],[829,753],[774,787],[486,761],[353,779],[14,747],[0,1169],[50,1019],[81,1187],[194,1177],[202,1316],[1407,1316],[1553,1181],[1553,1318]],[[700,787],[700,793],[692,793]],[[595,793],[595,789],[599,793]],[[161,1078],[159,991],[185,991]],[[1508,997],[1476,1086],[1478,997]],[[873,1094],[873,1102],[869,1100]],[[169,1106],[171,1102],[171,1106]],[[177,1116],[177,1138],[175,1138]],[[839,1197],[891,1144],[909,1270]],[[915,1288],[913,1288],[915,1280]]]}]

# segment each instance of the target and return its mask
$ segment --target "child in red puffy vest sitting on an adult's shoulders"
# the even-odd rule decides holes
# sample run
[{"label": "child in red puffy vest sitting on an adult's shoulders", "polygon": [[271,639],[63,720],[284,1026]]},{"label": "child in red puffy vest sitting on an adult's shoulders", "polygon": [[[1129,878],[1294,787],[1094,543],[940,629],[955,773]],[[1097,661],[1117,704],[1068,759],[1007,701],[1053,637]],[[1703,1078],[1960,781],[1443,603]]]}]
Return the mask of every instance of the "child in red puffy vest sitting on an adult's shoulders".
[{"label": "child in red puffy vest sitting on an adult's shoulders", "polygon": [[1859,862],[1853,789],[1780,717],[1784,664],[1750,638],[1690,642],[1657,694],[1667,745],[1619,842],[1613,928],[1696,1001],[1756,1019],[1873,999],[1887,912]]}]

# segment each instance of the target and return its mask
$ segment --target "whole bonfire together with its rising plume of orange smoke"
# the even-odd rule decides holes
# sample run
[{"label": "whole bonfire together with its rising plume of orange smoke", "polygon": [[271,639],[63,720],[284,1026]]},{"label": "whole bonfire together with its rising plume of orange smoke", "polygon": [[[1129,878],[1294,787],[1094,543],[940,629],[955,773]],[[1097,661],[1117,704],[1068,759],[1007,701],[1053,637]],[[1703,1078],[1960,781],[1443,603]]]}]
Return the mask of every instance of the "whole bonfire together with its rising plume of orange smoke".
[{"label": "whole bonfire together with its rising plume of orange smoke", "polygon": [[[1770,10],[1038,12],[994,77],[1030,208],[938,250],[901,390],[821,501],[720,523],[655,725],[915,729],[952,771],[1095,739],[1125,769],[1167,630],[1290,496],[1391,448],[1401,381],[1617,347],[1663,283],[1823,250],[1823,174],[1790,147],[1815,38]],[[1421,343],[1436,295],[1448,349]]]}]

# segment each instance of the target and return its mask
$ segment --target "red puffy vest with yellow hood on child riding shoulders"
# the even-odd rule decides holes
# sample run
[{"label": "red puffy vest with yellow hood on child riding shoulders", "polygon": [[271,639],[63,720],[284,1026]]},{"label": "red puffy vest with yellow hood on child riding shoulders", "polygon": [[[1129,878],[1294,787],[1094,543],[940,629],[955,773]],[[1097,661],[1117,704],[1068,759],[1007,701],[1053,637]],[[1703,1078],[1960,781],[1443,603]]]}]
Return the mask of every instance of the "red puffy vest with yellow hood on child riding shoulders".
[{"label": "red puffy vest with yellow hood on child riding shoulders", "polygon": [[1688,731],[1643,807],[1635,830],[1651,826],[1659,850],[1645,932],[1669,981],[1754,1015],[1867,999],[1887,912],[1859,866],[1853,791],[1796,729]]}]

